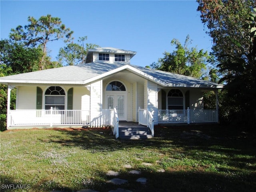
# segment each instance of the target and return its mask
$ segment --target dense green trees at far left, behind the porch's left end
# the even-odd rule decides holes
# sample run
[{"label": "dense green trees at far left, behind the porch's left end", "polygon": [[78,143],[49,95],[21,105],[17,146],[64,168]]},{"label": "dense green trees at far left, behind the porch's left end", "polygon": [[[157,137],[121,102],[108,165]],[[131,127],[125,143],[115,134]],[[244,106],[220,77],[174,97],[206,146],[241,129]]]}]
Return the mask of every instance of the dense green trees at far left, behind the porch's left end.
[{"label": "dense green trees at far left, behind the porch's left end", "polygon": [[[12,40],[0,41],[0,76],[20,74],[36,71],[39,68],[39,61],[42,57],[41,48],[28,48],[21,42]],[[8,86],[0,84],[0,130],[6,129],[6,108],[7,108]],[[10,108],[15,109],[16,89],[11,91]]]}]

